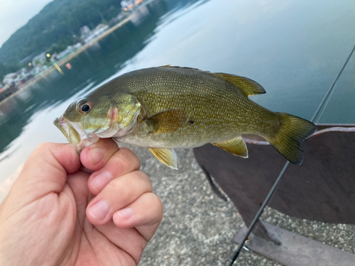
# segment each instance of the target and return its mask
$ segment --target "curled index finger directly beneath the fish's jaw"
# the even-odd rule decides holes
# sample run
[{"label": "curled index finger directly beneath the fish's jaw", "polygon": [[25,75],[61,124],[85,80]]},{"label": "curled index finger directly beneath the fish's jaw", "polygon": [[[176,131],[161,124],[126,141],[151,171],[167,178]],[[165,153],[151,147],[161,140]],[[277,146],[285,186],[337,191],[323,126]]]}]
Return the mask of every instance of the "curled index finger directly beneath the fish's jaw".
[{"label": "curled index finger directly beneath the fish's jaw", "polygon": [[119,145],[111,138],[100,138],[80,153],[80,161],[87,169],[96,171],[104,167],[107,161],[119,150]]}]

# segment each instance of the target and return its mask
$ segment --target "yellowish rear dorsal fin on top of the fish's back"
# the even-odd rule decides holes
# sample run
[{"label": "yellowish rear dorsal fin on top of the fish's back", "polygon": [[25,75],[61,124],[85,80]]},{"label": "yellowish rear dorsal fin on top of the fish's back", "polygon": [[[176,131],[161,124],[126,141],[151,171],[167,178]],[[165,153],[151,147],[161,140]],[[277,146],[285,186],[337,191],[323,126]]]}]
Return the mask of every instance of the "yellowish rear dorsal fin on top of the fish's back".
[{"label": "yellowish rear dorsal fin on top of the fish's back", "polygon": [[214,73],[214,75],[236,85],[246,96],[266,93],[261,84],[254,82],[253,79],[236,76],[235,74]]}]

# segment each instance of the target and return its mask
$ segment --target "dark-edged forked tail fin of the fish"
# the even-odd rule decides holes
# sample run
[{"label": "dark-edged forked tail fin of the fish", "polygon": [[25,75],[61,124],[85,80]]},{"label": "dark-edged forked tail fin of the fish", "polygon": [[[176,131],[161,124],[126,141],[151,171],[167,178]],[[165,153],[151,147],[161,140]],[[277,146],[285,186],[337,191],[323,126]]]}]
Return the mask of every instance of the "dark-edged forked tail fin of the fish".
[{"label": "dark-edged forked tail fin of the fish", "polygon": [[314,123],[288,113],[278,113],[283,118],[283,125],[275,138],[268,140],[287,160],[295,165],[303,162],[302,142],[309,138],[317,127]]}]

